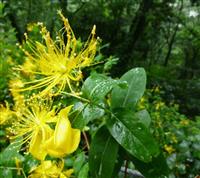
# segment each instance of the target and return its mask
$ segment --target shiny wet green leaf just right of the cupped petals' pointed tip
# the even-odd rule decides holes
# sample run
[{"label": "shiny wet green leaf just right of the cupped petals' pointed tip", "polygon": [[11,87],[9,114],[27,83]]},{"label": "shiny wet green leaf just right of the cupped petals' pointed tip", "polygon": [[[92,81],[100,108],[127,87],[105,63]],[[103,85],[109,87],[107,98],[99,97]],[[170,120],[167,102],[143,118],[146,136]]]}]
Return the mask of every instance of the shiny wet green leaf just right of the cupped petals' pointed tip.
[{"label": "shiny wet green leaf just right of the cupped petals' pointed tip", "polygon": [[[103,103],[99,103],[103,106]],[[73,128],[82,130],[90,121],[99,119],[104,115],[104,110],[90,104],[78,102],[74,105],[74,114],[71,115],[70,121]]]}]

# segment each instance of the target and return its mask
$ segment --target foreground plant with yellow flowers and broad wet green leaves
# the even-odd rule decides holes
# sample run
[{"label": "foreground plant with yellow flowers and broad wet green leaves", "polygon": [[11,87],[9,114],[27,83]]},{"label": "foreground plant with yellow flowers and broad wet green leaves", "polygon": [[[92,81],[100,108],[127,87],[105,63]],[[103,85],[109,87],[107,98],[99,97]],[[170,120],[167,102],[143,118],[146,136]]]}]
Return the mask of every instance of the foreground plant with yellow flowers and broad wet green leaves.
[{"label": "foreground plant with yellow flowers and broad wet green leaves", "polygon": [[134,68],[120,79],[93,72],[81,81],[82,68],[95,62],[95,27],[84,49],[76,49],[68,20],[58,13],[67,43],[59,34],[54,42],[41,26],[44,43],[27,38],[25,60],[10,78],[14,103],[1,107],[3,137],[10,139],[0,155],[1,175],[112,177],[120,171],[115,160],[124,159],[119,148],[151,161],[158,144],[134,111],[145,90],[144,69]]}]

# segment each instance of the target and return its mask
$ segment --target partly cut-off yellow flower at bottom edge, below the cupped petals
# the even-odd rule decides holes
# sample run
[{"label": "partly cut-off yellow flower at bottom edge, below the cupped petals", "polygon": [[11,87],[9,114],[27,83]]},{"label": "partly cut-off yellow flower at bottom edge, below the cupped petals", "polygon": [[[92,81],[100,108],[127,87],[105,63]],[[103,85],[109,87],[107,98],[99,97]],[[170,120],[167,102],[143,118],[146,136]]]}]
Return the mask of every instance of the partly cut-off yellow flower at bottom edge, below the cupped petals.
[{"label": "partly cut-off yellow flower at bottom edge, below the cupped petals", "polygon": [[31,170],[29,178],[69,178],[74,172],[73,169],[63,171],[64,161],[56,164],[52,161],[42,161],[41,165]]}]

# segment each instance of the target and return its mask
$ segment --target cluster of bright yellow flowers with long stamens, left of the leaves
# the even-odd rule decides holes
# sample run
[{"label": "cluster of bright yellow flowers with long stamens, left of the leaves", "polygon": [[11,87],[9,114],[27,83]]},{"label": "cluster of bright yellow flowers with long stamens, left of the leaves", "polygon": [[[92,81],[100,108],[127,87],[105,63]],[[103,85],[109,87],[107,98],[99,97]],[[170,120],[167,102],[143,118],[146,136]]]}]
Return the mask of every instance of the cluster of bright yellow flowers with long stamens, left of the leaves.
[{"label": "cluster of bright yellow flowers with long stamens, left of the leaves", "polygon": [[[40,161],[40,165],[30,171],[30,178],[68,178],[73,173],[73,169],[63,170],[62,159],[76,151],[81,132],[72,128],[68,118],[73,105],[60,108],[54,106],[52,98],[64,90],[76,96],[74,84],[82,79],[82,68],[93,63],[96,53],[96,27],[79,50],[68,20],[60,11],[58,14],[64,28],[55,41],[41,23],[38,26],[44,43],[32,41],[25,34],[26,49],[23,51],[26,59],[15,68],[16,77],[9,82],[14,104],[0,105],[0,124],[14,116],[8,129],[10,138],[23,138],[20,144],[26,145],[27,152]],[[62,161],[48,160],[49,156]]]}]

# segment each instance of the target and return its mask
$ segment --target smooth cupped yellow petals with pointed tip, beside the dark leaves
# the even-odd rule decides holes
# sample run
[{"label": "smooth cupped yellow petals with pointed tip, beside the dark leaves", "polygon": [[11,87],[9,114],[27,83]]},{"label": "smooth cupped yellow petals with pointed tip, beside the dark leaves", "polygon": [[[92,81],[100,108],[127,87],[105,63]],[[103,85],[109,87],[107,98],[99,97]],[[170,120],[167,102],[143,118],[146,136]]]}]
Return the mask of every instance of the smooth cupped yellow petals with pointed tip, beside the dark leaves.
[{"label": "smooth cupped yellow petals with pointed tip, beside the dark leaves", "polygon": [[71,128],[67,117],[72,106],[62,109],[53,136],[45,143],[46,151],[54,157],[63,157],[74,152],[80,142],[80,130]]}]

